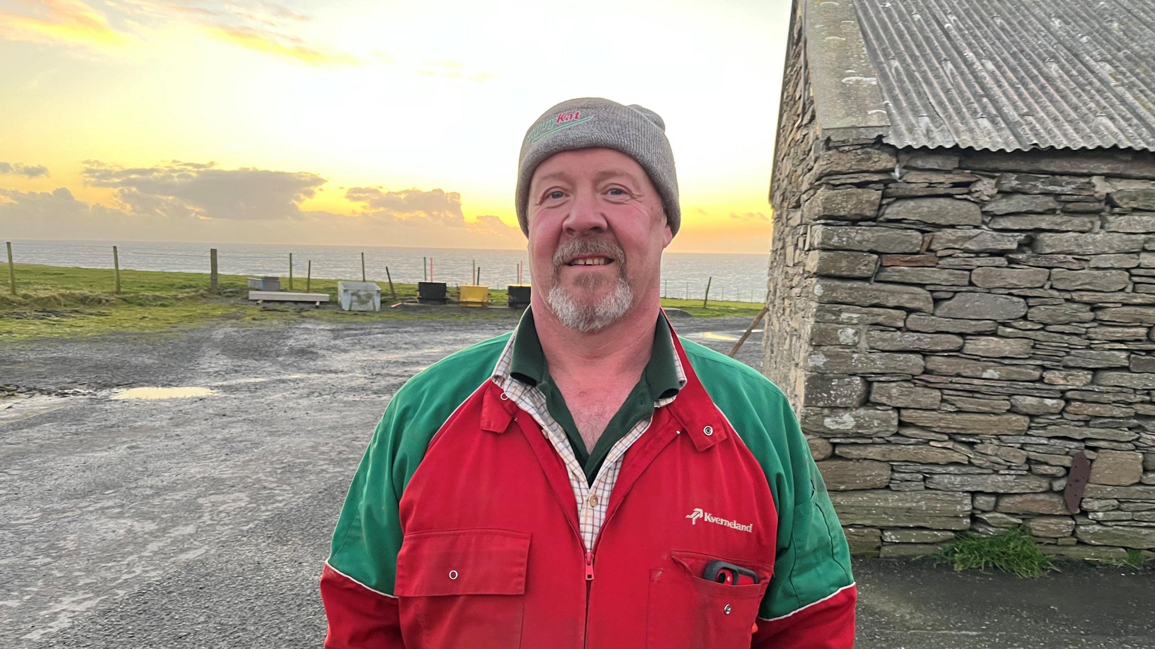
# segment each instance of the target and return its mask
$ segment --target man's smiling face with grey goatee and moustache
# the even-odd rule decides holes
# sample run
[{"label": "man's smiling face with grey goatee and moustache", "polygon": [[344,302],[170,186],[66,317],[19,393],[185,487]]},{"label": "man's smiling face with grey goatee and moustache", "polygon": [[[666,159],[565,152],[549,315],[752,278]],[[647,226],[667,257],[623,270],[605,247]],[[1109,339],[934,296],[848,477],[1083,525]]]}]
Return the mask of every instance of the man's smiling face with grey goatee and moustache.
[{"label": "man's smiling face with grey goatee and moustache", "polygon": [[646,170],[613,149],[551,156],[529,185],[529,263],[559,320],[597,331],[656,293],[673,234]]}]

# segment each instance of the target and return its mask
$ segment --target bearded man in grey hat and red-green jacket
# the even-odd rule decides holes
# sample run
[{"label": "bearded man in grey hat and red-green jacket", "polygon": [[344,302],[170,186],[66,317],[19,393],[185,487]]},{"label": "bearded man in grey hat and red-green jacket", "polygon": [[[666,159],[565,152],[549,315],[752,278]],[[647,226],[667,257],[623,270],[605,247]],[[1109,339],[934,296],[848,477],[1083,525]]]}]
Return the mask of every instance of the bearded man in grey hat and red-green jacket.
[{"label": "bearded man in grey hat and red-green jacket", "polygon": [[326,647],[852,646],[845,539],[789,404],[662,313],[664,128],[582,98],[526,134],[530,308],[393,397],[321,577]]}]

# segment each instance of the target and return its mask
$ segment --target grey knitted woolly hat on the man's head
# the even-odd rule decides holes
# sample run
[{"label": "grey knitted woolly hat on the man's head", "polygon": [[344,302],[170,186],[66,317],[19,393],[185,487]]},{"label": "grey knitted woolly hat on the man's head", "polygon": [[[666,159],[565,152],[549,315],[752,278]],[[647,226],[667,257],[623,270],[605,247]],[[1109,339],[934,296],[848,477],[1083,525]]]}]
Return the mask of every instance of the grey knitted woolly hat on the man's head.
[{"label": "grey knitted woolly hat on the man's head", "polygon": [[670,231],[678,233],[678,174],[673,151],[665,137],[665,122],[657,113],[636,104],[624,106],[601,97],[561,102],[542,113],[521,141],[517,159],[517,221],[529,236],[529,181],[534,170],[553,154],[605,147],[638,161],[662,195]]}]

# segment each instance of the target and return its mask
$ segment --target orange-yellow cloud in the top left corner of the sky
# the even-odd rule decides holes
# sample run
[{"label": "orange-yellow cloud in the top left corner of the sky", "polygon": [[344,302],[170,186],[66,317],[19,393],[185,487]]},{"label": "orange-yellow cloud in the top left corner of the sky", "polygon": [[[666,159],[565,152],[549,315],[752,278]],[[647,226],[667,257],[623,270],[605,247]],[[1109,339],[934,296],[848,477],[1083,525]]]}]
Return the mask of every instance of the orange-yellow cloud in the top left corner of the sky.
[{"label": "orange-yellow cloud in the top left corner of the sky", "polygon": [[126,40],[109,24],[104,14],[81,0],[40,0],[30,6],[46,12],[39,16],[0,12],[0,36],[32,43],[65,42],[99,46],[121,45]]}]

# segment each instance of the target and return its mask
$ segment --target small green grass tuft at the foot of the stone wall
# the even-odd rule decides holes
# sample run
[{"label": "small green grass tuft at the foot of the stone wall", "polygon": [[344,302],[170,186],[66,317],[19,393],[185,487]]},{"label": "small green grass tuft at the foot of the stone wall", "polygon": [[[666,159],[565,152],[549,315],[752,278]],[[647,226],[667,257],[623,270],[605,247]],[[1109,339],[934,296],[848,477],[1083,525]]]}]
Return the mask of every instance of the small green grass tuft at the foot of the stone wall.
[{"label": "small green grass tuft at the foot of the stone wall", "polygon": [[1022,528],[1012,528],[999,536],[959,535],[944,545],[938,559],[952,564],[955,570],[996,568],[1020,577],[1037,577],[1058,569]]}]

